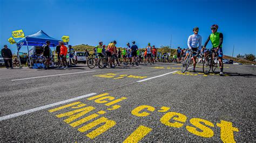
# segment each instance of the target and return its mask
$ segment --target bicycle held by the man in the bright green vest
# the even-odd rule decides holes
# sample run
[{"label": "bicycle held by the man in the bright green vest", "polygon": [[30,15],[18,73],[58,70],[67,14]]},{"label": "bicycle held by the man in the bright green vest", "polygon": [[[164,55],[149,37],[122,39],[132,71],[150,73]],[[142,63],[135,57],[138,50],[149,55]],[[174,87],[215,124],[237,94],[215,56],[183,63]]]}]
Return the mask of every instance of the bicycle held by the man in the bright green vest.
[{"label": "bicycle held by the man in the bright green vest", "polygon": [[203,63],[204,74],[209,74],[210,71],[214,73],[215,69],[218,67],[218,53],[215,49],[210,49],[210,53],[205,56]]}]

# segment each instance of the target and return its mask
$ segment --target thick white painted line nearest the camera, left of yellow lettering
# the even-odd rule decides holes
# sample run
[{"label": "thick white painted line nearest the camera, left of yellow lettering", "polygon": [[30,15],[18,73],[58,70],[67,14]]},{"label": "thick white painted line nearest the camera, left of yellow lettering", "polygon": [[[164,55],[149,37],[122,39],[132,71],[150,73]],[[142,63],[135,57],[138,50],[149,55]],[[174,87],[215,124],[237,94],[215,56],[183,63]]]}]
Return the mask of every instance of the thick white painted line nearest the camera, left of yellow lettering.
[{"label": "thick white painted line nearest the camera, left of yellow lettering", "polygon": [[33,109],[30,109],[30,110],[25,110],[25,111],[22,111],[22,112],[17,112],[17,113],[13,113],[13,114],[10,114],[10,115],[2,116],[2,117],[0,117],[0,121],[11,119],[11,118],[22,116],[22,115],[26,115],[28,113],[36,112],[36,111],[39,111],[39,110],[51,108],[51,107],[56,106],[56,105],[76,101],[78,99],[82,99],[82,98],[89,97],[89,96],[92,96],[92,95],[96,95],[96,94],[95,93],[86,94],[86,95],[78,96],[78,97],[75,97],[75,98],[67,99],[65,101],[60,101],[60,102],[44,105],[44,106],[41,106],[41,107],[38,107],[38,108],[33,108]]}]

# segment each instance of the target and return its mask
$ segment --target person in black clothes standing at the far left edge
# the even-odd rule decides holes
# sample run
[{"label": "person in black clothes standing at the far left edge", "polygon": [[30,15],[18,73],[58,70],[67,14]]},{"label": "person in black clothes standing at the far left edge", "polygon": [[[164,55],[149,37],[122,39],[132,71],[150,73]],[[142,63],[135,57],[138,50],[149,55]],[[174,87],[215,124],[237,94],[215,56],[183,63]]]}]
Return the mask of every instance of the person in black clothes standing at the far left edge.
[{"label": "person in black clothes standing at the far left edge", "polygon": [[[11,69],[13,69],[13,67],[12,67],[12,53],[11,53],[11,50],[8,48],[7,45],[4,45],[4,48],[1,50],[1,55],[4,58],[5,67],[7,69],[9,69],[9,67]],[[10,66],[8,65],[8,62],[10,64]]]}]

